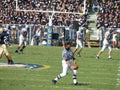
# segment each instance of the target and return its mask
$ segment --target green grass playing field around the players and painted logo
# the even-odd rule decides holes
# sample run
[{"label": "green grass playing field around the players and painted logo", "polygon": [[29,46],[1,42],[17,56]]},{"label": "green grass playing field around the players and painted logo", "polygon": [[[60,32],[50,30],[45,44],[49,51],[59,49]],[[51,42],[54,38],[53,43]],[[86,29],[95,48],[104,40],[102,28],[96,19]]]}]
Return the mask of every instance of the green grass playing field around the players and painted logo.
[{"label": "green grass playing field around the players and painted logo", "polygon": [[[81,57],[76,57],[79,85],[74,86],[71,72],[56,85],[51,82],[62,71],[62,47],[28,46],[24,54],[14,53],[15,49],[16,46],[9,48],[15,63],[49,65],[50,68],[0,67],[0,90],[120,90],[120,50],[113,51],[113,60],[107,59],[107,50],[96,60],[99,48],[84,48]],[[0,62],[7,62],[5,56]]]}]

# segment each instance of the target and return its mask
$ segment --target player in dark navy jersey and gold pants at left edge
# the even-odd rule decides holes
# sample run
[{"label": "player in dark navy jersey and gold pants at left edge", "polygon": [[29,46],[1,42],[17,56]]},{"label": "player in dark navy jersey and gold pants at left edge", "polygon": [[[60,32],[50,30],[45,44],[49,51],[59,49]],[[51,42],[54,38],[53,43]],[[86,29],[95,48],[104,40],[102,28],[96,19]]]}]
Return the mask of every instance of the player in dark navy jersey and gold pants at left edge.
[{"label": "player in dark navy jersey and gold pants at left edge", "polygon": [[14,64],[12,57],[7,50],[6,37],[8,37],[8,34],[4,33],[3,27],[0,27],[0,59],[2,58],[2,55],[5,54],[5,56],[8,60],[8,64]]}]

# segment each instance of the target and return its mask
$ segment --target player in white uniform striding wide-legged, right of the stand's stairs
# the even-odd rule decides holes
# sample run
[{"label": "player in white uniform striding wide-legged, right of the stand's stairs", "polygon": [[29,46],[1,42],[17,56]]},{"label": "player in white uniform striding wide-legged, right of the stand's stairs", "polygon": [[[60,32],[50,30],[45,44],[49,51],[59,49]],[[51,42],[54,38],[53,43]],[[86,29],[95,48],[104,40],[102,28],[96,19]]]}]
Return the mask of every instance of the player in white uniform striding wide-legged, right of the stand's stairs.
[{"label": "player in white uniform striding wide-legged, right of the stand's stairs", "polygon": [[113,34],[113,30],[109,30],[109,31],[106,31],[105,32],[105,35],[104,35],[104,40],[103,40],[103,46],[102,46],[102,49],[98,52],[97,56],[96,56],[96,59],[99,59],[99,56],[103,53],[103,51],[108,47],[109,51],[108,51],[108,59],[112,59],[112,56],[111,56],[111,52],[112,52],[112,48],[111,48],[111,38],[110,36]]}]

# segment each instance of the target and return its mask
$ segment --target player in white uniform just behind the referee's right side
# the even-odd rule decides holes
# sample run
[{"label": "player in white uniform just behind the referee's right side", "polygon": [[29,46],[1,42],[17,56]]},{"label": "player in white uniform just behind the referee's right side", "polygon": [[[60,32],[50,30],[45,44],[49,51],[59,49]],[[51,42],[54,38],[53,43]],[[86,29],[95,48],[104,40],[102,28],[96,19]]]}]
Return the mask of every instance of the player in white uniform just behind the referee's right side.
[{"label": "player in white uniform just behind the referee's right side", "polygon": [[77,37],[76,37],[76,47],[75,47],[73,53],[75,54],[75,52],[76,52],[76,51],[78,50],[78,48],[80,47],[79,50],[78,50],[78,52],[77,52],[77,55],[80,56],[80,52],[81,52],[82,49],[83,49],[83,44],[82,44],[82,42],[83,42],[83,33],[82,33],[82,30],[79,29],[79,30],[76,32],[76,35],[77,35]]}]

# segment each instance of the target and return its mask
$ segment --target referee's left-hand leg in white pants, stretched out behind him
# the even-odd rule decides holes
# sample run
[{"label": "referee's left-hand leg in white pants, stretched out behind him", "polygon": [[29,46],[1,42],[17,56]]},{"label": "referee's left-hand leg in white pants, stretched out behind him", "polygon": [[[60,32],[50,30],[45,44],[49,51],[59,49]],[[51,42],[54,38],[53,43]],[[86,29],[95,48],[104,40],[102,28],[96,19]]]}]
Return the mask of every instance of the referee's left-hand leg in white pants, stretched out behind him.
[{"label": "referee's left-hand leg in white pants, stretched out behind him", "polygon": [[61,79],[62,77],[64,77],[64,76],[67,75],[68,65],[66,64],[66,61],[65,61],[65,60],[62,61],[62,67],[63,67],[62,73],[59,74],[59,75],[57,75],[57,76],[52,80],[52,82],[53,82],[54,84],[56,84],[56,82],[57,82],[59,79]]}]

